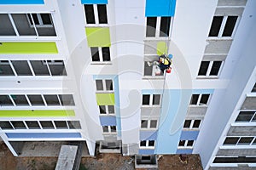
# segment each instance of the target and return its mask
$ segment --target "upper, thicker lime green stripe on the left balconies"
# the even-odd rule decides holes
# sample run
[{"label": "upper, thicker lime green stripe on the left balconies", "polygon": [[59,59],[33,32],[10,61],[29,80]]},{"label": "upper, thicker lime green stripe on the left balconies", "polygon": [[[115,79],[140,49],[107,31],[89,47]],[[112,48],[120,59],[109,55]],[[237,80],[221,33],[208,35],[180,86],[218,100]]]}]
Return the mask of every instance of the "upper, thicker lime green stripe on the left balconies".
[{"label": "upper, thicker lime green stripe on the left balconies", "polygon": [[55,42],[2,42],[0,54],[58,54]]}]

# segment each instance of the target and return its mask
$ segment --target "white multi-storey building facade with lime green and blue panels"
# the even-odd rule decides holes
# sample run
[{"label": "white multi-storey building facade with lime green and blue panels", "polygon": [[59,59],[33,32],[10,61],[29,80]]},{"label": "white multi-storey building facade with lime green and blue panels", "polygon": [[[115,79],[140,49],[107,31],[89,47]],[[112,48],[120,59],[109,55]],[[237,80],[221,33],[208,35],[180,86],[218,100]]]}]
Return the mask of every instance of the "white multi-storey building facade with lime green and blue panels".
[{"label": "white multi-storey building facade with lime green and blue panels", "polygon": [[[0,1],[1,139],[255,167],[253,0]],[[172,54],[172,73],[148,61]],[[253,88],[254,87],[254,88]]]}]

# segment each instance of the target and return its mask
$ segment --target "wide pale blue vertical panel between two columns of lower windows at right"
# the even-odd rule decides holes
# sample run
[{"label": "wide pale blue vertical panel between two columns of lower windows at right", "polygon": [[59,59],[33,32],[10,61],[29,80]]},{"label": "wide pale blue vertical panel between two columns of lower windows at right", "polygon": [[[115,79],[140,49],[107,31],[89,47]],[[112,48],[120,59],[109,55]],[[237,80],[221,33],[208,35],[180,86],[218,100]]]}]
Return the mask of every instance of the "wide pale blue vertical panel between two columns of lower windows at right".
[{"label": "wide pale blue vertical panel between two columns of lower windows at right", "polygon": [[191,94],[192,89],[165,90],[155,154],[176,153]]}]

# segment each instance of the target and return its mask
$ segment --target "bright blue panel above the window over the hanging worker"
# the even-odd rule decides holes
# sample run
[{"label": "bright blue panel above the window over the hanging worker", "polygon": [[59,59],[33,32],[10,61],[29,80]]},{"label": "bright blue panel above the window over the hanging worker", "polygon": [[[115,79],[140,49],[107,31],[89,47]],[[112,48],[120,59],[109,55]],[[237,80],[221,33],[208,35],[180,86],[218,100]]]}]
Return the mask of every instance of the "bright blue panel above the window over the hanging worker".
[{"label": "bright blue panel above the window over the hanging worker", "polygon": [[176,0],[146,0],[146,17],[174,16]]}]

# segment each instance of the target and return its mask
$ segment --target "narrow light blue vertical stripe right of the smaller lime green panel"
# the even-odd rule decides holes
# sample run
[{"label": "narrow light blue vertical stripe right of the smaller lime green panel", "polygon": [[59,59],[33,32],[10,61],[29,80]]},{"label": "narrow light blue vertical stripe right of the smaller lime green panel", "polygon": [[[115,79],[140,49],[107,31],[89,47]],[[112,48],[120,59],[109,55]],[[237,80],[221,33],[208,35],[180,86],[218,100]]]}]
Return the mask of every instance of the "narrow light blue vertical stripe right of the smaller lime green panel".
[{"label": "narrow light blue vertical stripe right of the smaller lime green panel", "polygon": [[119,102],[119,77],[116,76],[113,78],[113,89],[114,89],[114,111],[116,117],[116,127],[118,137],[121,138],[121,113],[120,113],[120,102]]}]

